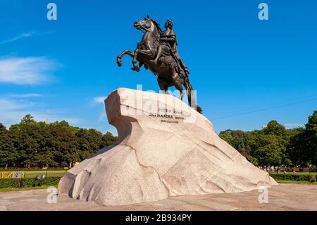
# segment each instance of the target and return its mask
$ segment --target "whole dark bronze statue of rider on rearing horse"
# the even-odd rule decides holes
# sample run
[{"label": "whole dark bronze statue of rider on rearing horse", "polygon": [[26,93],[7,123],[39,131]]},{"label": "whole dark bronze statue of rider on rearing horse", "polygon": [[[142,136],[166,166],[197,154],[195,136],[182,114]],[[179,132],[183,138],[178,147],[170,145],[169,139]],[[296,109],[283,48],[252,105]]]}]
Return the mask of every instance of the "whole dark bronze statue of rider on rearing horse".
[{"label": "whole dark bronze statue of rider on rearing horse", "polygon": [[[180,99],[183,96],[182,85],[187,92],[189,106],[202,112],[201,107],[196,103],[194,89],[189,82],[189,71],[186,64],[182,61],[177,50],[177,39],[175,32],[172,30],[173,23],[167,20],[165,31],[162,31],[155,20],[144,18],[134,23],[138,30],[145,31],[141,42],[137,44],[134,52],[126,49],[117,56],[118,66],[122,66],[122,57],[125,54],[131,56],[133,71],[139,72],[144,66],[158,76],[157,80],[161,91],[168,94],[168,87],[175,86],[180,91]],[[139,65],[137,65],[139,61]]]}]

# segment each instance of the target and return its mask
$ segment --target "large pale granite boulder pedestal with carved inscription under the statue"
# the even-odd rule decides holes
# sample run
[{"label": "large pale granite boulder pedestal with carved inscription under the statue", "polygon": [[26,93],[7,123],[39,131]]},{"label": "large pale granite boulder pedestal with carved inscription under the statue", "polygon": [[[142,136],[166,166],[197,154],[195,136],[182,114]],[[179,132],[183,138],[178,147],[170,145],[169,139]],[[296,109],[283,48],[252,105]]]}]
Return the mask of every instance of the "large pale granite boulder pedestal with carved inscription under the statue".
[{"label": "large pale granite boulder pedestal with carved inscription under the statue", "polygon": [[102,205],[277,185],[172,95],[120,88],[105,100],[118,141],[70,169],[60,194]]}]

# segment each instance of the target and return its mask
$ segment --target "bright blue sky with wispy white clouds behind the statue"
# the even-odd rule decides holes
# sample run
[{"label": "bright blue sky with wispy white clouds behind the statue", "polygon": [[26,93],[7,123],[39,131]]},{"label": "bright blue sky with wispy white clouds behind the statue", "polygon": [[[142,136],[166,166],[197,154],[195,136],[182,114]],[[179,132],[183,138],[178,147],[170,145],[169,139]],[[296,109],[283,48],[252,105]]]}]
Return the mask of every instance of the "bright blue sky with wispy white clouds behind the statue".
[{"label": "bright blue sky with wispy white clouds behind the statue", "polygon": [[[46,19],[57,5],[58,20]],[[173,20],[199,105],[216,130],[260,129],[272,119],[306,123],[317,106],[317,2],[0,0],[0,123],[25,114],[115,129],[101,97],[118,87],[159,90],[149,71],[130,71],[149,14]],[[269,20],[259,20],[266,2]]]}]

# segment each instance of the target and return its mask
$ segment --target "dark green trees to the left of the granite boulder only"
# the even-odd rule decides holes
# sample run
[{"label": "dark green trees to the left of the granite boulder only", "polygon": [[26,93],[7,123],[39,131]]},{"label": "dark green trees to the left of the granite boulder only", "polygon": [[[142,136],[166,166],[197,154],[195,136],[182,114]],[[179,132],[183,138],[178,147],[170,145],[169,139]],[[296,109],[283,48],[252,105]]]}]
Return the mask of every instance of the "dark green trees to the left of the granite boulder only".
[{"label": "dark green trees to the left of the granite boulder only", "polygon": [[0,123],[0,167],[69,167],[116,141],[111,133],[46,124],[26,115],[7,130]]}]

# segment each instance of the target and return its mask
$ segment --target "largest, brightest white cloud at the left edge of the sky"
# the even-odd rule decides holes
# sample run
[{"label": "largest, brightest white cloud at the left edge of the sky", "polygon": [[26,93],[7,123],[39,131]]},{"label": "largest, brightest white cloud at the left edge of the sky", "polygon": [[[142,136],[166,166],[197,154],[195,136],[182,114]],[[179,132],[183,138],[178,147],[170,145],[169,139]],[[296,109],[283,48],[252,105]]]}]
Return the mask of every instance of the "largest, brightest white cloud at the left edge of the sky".
[{"label": "largest, brightest white cloud at the left edge of the sky", "polygon": [[0,58],[0,83],[39,85],[54,78],[50,75],[60,65],[45,57]]}]

